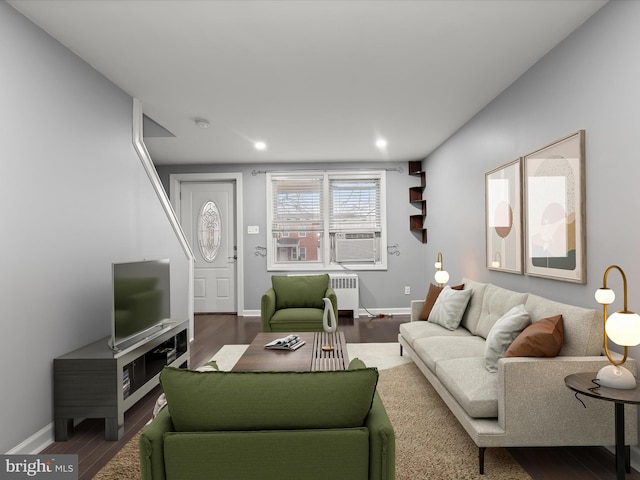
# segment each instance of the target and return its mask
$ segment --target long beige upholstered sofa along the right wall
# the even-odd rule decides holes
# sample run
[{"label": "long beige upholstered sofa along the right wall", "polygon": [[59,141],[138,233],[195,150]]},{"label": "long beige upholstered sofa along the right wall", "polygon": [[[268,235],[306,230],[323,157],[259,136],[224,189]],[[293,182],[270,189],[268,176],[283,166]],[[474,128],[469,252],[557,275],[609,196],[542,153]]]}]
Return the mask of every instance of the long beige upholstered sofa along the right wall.
[{"label": "long beige upholstered sofa along the right wall", "polygon": [[[472,294],[461,324],[448,330],[418,320],[423,301],[411,302],[411,322],[400,326],[402,354],[410,356],[479,447],[480,473],[487,447],[615,444],[614,405],[580,396],[564,383],[572,373],[609,364],[601,355],[601,313],[533,294],[463,279]],[[485,368],[485,341],[506,312],[524,305],[531,322],[562,314],[564,342],[558,356],[498,360]],[[625,364],[634,374],[636,363]],[[625,407],[627,445],[637,443],[637,410]]]}]

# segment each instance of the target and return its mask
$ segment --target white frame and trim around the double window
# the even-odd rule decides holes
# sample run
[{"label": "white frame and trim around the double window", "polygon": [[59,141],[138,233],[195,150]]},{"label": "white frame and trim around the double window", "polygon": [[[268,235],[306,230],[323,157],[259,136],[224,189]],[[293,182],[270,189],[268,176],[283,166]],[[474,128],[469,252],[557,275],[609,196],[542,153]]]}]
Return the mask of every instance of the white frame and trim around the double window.
[{"label": "white frame and trim around the double window", "polygon": [[[267,271],[342,271],[342,270],[387,270],[387,184],[385,170],[325,170],[304,172],[266,172],[266,203],[267,203]],[[274,180],[305,180],[322,176],[321,188],[321,217],[322,236],[320,238],[321,259],[318,261],[296,261],[283,262],[276,258],[276,245],[274,242]],[[333,259],[333,235],[334,231],[330,225],[330,179],[362,181],[366,179],[376,179],[379,192],[379,219],[380,232],[377,234],[378,259],[372,263],[364,262],[342,262],[332,261]],[[344,231],[344,230],[343,230]],[[362,232],[363,229],[354,231]],[[371,231],[371,230],[367,230]]]}]

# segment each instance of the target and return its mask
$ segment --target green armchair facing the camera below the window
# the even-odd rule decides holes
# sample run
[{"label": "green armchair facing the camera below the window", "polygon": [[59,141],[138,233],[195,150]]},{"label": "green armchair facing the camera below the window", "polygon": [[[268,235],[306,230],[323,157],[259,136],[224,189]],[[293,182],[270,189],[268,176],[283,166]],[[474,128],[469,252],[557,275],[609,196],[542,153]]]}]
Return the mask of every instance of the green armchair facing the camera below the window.
[{"label": "green armchair facing the camera below the window", "polygon": [[273,276],[271,284],[260,305],[263,332],[322,331],[325,297],[338,318],[338,298],[329,275]]}]

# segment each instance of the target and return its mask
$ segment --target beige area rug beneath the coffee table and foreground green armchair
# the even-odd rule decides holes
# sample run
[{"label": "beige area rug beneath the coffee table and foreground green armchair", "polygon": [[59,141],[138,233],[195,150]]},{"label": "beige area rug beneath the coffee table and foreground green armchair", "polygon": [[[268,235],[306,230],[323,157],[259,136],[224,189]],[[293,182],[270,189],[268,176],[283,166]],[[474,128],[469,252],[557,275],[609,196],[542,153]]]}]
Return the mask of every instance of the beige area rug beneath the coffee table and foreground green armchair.
[{"label": "beige area rug beneath the coffee table and foreground green armchair", "polygon": [[[397,343],[390,345],[397,347]],[[244,349],[246,345],[227,345],[214,358],[221,369],[227,370],[235,363],[231,363],[230,357],[239,358]],[[392,347],[378,349],[382,351],[399,357],[399,351]],[[382,357],[374,358],[371,352],[358,353],[354,352],[354,357],[358,356],[367,365],[389,363]],[[349,356],[353,358],[351,350]],[[418,368],[406,363],[406,359],[402,362],[404,364],[395,367],[380,368],[378,381],[378,391],[396,433],[396,480],[531,480],[502,448],[487,449],[485,474],[478,474],[476,445]],[[94,478],[137,480],[140,478],[138,462],[136,435]]]}]

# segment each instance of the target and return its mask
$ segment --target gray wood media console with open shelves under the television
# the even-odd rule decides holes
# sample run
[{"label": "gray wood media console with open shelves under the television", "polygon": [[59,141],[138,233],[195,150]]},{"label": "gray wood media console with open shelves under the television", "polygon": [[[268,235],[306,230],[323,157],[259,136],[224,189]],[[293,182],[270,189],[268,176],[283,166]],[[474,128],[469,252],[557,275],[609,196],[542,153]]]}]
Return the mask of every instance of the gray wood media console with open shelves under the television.
[{"label": "gray wood media console with open shelves under the television", "polygon": [[104,418],[105,439],[122,438],[124,412],[158,385],[160,371],[188,365],[188,323],[164,327],[121,352],[104,338],[54,359],[55,441],[73,435],[77,418]]}]

